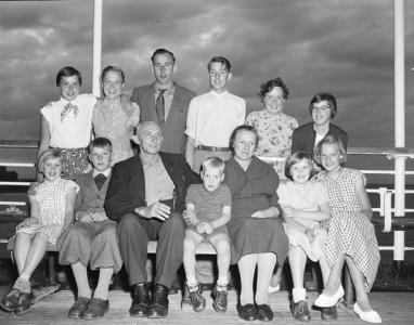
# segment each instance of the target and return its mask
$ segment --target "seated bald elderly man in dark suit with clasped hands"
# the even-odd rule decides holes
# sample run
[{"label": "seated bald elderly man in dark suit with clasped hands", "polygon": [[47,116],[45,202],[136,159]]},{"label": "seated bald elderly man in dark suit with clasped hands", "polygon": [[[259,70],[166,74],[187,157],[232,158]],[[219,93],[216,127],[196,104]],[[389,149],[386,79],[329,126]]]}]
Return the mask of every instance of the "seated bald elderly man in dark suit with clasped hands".
[{"label": "seated bald elderly man in dark suit with clasped hands", "polygon": [[[139,125],[137,142],[140,154],[114,166],[104,206],[107,216],[119,221],[119,247],[132,286],[130,315],[165,317],[169,288],[182,263],[186,188],[200,180],[183,155],[159,152],[163,133],[155,121]],[[158,240],[151,303],[148,240]]]}]

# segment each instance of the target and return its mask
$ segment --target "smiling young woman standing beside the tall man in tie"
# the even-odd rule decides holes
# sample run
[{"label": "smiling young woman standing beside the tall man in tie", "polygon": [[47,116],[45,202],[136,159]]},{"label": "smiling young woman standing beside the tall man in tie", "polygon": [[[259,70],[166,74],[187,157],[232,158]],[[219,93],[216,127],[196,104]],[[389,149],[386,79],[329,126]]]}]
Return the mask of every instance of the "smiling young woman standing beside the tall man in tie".
[{"label": "smiling young woman standing beside the tall man in tie", "polygon": [[137,103],[121,101],[125,84],[122,69],[109,65],[102,70],[101,78],[104,99],[98,101],[93,109],[93,132],[95,136],[111,140],[114,165],[133,155],[130,139],[140,121],[140,107]]}]

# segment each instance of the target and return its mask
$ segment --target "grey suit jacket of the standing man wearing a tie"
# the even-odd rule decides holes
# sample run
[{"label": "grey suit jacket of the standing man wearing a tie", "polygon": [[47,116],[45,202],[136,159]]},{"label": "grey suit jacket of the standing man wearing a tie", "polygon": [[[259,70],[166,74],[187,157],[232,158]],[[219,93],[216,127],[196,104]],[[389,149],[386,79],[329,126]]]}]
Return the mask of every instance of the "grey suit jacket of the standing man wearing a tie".
[{"label": "grey suit jacket of the standing man wearing a tie", "polygon": [[[171,108],[163,127],[164,141],[161,152],[184,154],[185,125],[190,101],[195,96],[191,90],[174,83],[174,93]],[[154,83],[135,88],[131,101],[140,106],[140,120],[154,120],[158,122],[155,110]]]}]

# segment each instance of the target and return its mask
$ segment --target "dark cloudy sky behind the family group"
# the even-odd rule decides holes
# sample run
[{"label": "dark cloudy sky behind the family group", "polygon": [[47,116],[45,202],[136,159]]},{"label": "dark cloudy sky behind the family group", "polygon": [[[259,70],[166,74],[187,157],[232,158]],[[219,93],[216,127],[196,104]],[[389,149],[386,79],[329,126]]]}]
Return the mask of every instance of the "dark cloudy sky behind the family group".
[{"label": "dark cloudy sky behind the family group", "polygon": [[[414,146],[414,1],[405,1],[406,146]],[[59,98],[56,72],[73,65],[91,91],[93,1],[0,2],[0,139],[39,138],[39,109]],[[392,0],[103,0],[102,66],[126,74],[126,93],[153,80],[156,48],[174,52],[176,79],[208,89],[206,63],[233,65],[231,91],[259,109],[260,83],[290,89],[285,113],[310,120],[312,95],[338,100],[334,122],[350,146],[393,146]]]}]

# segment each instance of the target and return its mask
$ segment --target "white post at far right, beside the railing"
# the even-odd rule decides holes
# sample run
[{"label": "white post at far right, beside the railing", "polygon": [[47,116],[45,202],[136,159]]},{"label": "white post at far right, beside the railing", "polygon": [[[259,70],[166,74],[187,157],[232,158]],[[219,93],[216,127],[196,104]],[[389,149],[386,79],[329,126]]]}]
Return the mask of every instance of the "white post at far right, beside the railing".
[{"label": "white post at far right, beside the railing", "polygon": [[[404,75],[404,0],[394,0],[394,134],[396,147],[405,147],[405,75]],[[405,209],[405,157],[394,156],[396,207],[394,217],[404,217]],[[396,262],[404,260],[404,232],[393,235]]]}]

